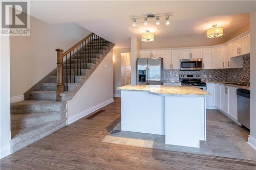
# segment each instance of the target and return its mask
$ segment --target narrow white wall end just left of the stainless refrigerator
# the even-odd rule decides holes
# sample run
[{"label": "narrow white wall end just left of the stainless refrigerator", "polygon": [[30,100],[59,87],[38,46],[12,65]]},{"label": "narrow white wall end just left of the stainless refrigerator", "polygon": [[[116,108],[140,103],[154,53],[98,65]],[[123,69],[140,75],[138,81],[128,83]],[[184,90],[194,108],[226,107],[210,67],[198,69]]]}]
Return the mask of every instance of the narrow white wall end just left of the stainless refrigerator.
[{"label": "narrow white wall end just left of the stainless refrigerator", "polygon": [[136,84],[136,61],[139,58],[140,39],[131,37],[131,84]]}]

